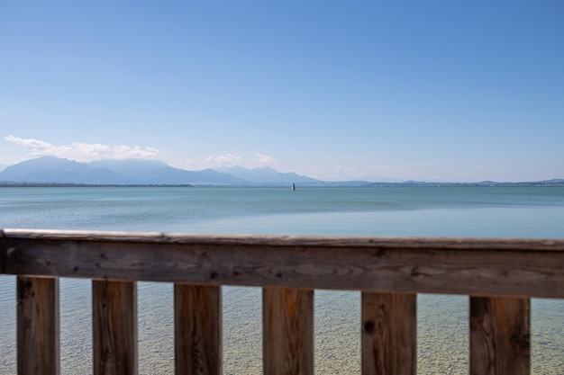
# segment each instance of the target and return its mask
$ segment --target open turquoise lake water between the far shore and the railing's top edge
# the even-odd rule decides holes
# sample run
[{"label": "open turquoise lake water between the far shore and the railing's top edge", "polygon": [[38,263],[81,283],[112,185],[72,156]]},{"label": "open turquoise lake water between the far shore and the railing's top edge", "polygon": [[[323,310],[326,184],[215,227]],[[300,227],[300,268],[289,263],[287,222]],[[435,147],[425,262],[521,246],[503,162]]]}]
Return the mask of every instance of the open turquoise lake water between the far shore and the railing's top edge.
[{"label": "open turquoise lake water between the far shore and the railing's top edge", "polygon": [[0,228],[562,237],[563,208],[556,187],[0,188]]}]

